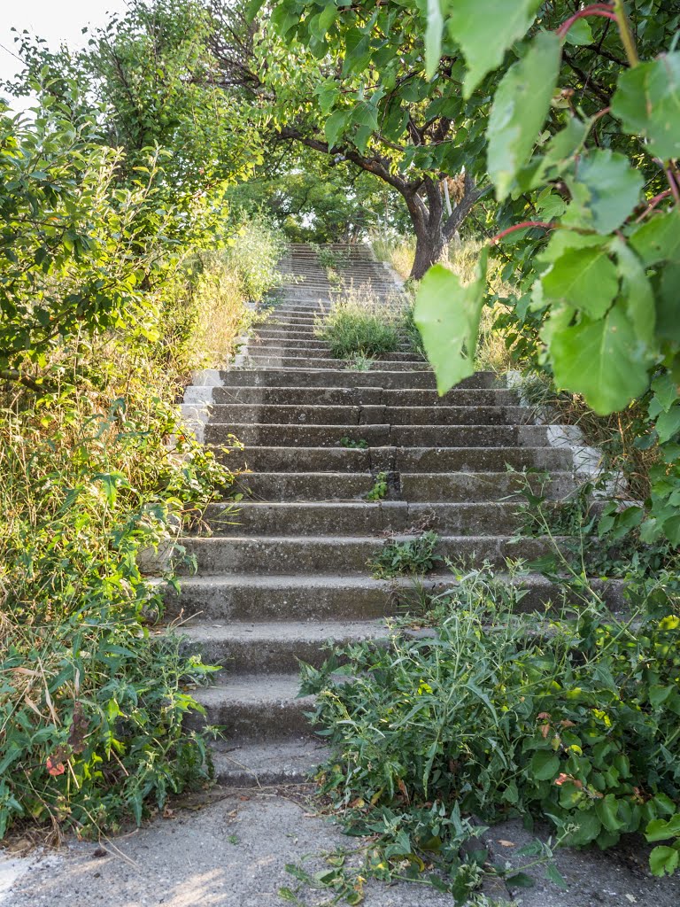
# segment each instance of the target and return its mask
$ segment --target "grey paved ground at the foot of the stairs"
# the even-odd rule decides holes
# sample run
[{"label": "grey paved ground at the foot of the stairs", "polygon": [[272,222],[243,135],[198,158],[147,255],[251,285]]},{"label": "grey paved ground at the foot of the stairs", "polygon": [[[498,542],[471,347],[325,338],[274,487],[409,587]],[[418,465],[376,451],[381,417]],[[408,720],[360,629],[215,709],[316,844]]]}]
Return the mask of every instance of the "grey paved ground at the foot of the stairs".
[{"label": "grey paved ground at the foot of the stairs", "polygon": [[[0,858],[0,907],[283,907],[278,889],[295,885],[286,863],[361,844],[313,815],[299,791],[218,789],[204,808],[177,808],[101,848],[73,842],[57,853]],[[489,838],[497,859],[516,863],[531,835],[511,822]],[[680,878],[649,877],[637,844],[605,853],[565,850],[557,863],[568,891],[537,873],[534,888],[511,893],[518,907],[678,907]],[[306,868],[325,865],[317,856]],[[327,892],[301,900],[317,907]],[[452,898],[422,885],[369,883],[364,907],[452,907]]]}]

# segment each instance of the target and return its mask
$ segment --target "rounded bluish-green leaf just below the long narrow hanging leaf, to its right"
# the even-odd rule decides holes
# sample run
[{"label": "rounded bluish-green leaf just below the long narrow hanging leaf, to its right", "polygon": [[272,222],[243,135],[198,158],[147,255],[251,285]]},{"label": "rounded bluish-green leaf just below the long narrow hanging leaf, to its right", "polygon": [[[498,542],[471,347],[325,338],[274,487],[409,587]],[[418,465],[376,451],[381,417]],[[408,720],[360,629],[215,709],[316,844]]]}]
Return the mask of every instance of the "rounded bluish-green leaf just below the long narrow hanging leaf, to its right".
[{"label": "rounded bluish-green leaf just below the long narrow hanging leaf, to its right", "polygon": [[579,159],[567,181],[572,202],[564,223],[612,233],[636,207],[644,180],[624,154],[597,149]]}]

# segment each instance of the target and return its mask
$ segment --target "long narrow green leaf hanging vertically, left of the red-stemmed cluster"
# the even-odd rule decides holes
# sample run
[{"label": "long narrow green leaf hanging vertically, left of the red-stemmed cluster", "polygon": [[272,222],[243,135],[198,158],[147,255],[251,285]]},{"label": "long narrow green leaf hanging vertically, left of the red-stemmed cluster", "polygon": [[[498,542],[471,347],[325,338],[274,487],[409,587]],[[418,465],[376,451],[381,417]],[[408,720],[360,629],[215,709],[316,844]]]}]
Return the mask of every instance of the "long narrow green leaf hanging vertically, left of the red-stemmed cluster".
[{"label": "long narrow green leaf hanging vertically, left of the red-stemmed cluster", "polygon": [[540,32],[527,54],[510,66],[495,94],[487,132],[488,165],[500,201],[529,160],[545,122],[558,81],[560,53],[559,37]]}]

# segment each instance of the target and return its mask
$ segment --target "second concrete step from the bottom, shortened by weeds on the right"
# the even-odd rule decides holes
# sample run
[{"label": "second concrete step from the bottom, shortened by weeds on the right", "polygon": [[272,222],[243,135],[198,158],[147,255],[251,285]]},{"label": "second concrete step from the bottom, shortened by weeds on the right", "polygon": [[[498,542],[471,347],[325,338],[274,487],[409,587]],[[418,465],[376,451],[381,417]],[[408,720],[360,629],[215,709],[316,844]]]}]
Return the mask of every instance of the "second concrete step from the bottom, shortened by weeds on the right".
[{"label": "second concrete step from the bottom, shortened by weeds on the right", "polygon": [[297,698],[299,688],[296,673],[226,677],[218,686],[193,691],[206,716],[191,716],[189,727],[220,725],[227,739],[239,743],[312,736],[305,712],[313,698]]}]

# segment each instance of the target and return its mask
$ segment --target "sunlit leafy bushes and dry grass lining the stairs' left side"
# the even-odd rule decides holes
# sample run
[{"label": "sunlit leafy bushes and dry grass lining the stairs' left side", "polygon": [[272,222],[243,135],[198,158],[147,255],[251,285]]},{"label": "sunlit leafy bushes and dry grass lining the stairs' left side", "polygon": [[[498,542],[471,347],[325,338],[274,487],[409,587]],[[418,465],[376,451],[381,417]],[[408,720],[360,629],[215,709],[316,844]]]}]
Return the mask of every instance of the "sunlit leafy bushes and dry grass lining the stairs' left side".
[{"label": "sunlit leafy bushes and dry grass lining the stairs' left side", "polygon": [[175,402],[228,356],[277,243],[258,227],[250,256],[209,255],[214,198],[173,201],[161,151],[119,182],[121,153],[70,116],[52,98],[0,118],[0,836],[96,835],[209,776],[182,721],[212,668],[151,630],[141,565],[169,572],[181,527],[231,493]]}]

